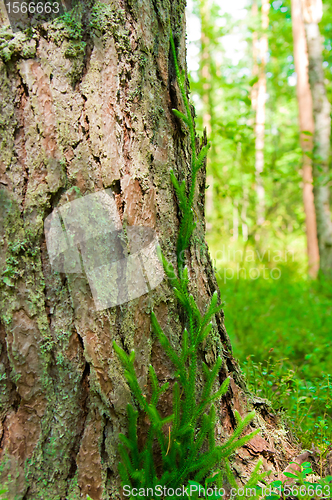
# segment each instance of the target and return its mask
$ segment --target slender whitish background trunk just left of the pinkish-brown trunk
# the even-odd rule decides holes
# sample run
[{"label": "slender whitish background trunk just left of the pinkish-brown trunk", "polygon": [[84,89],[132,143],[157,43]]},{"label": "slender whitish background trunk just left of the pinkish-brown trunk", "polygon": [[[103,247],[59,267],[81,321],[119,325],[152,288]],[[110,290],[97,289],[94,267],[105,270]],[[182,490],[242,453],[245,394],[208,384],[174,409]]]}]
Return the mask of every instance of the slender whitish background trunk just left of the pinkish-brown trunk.
[{"label": "slender whitish background trunk just left of the pinkish-brown trunk", "polygon": [[[268,0],[262,0],[261,7],[261,36],[253,34],[253,74],[258,80],[254,85],[252,103],[256,114],[255,118],[255,173],[257,193],[257,225],[262,225],[265,220],[265,189],[261,174],[264,169],[264,142],[265,142],[265,101],[266,101],[266,73],[265,67],[268,54],[268,40],[266,30],[269,26]],[[258,17],[257,0],[252,5],[252,14]]]}]

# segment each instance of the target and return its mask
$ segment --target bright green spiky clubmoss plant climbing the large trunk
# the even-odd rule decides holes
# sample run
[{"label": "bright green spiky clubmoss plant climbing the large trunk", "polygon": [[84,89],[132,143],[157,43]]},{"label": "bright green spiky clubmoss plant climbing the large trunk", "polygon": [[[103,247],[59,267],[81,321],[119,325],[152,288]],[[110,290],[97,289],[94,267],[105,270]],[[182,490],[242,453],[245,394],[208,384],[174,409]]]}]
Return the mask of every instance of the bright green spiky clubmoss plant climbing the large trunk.
[{"label": "bright green spiky clubmoss plant climbing the large trunk", "polygon": [[[177,272],[160,250],[159,253],[174,294],[183,308],[186,324],[182,333],[182,346],[177,352],[163,332],[155,314],[153,312],[151,314],[153,331],[176,370],[172,413],[166,418],[160,415],[158,402],[161,395],[168,390],[169,384],[160,386],[155,370],[150,365],[151,396],[148,399],[139,385],[135,372],[135,352],[131,351],[128,355],[114,342],[114,349],[125,368],[125,377],[136,400],[136,407],[128,405],[128,433],[127,436],[120,435],[119,447],[121,455],[119,473],[122,486],[126,486],[126,496],[130,498],[134,498],[134,495],[132,497],[130,495],[133,488],[137,488],[135,494],[138,496],[141,491],[141,496],[152,499],[155,498],[154,492],[157,485],[161,488],[173,488],[175,491],[176,488],[187,485],[188,480],[202,481],[236,448],[248,442],[258,432],[256,430],[241,437],[254,413],[242,419],[235,411],[237,420],[235,431],[222,445],[215,442],[216,413],[213,403],[227,392],[229,379],[226,379],[221,387],[213,392],[223,361],[221,357],[218,357],[214,367],[209,369],[204,362],[199,361],[198,351],[204,339],[209,335],[212,328],[211,320],[221,310],[221,305],[218,304],[218,294],[215,292],[205,313],[200,312],[194,297],[189,292],[188,268],[183,262],[185,250],[189,246],[190,237],[195,228],[193,203],[197,173],[204,163],[208,146],[204,146],[197,154],[195,125],[186,94],[185,77],[178,67],[172,35],[170,41],[186,114],[178,110],[173,111],[189,129],[191,181],[187,188],[185,181],[180,184],[174,172],[171,171],[171,180],[181,211],[177,241]],[[203,371],[205,383],[200,393],[197,394],[196,380],[199,367]],[[138,444],[139,411],[144,412],[145,421],[149,422],[148,433],[142,447]],[[157,496],[160,497],[160,495]],[[167,498],[179,499],[188,498],[188,496],[185,493],[182,496],[177,493],[174,496],[168,495]]]}]

